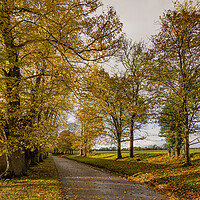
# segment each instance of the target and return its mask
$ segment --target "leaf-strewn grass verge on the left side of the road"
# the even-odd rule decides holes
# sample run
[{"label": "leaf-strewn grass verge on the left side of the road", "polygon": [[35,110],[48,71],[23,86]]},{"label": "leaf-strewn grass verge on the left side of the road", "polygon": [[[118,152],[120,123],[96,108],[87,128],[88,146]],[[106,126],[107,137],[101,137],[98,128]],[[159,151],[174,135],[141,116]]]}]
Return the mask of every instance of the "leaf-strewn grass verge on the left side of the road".
[{"label": "leaf-strewn grass verge on the left side of the road", "polygon": [[0,199],[62,199],[53,159],[31,167],[26,176],[0,181]]}]

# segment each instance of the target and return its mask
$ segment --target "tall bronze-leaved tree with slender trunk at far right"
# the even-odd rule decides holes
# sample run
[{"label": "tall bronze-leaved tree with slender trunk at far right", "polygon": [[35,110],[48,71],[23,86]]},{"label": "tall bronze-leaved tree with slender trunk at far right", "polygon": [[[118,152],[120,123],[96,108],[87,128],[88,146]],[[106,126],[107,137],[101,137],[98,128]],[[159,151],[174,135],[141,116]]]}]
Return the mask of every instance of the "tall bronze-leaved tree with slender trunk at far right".
[{"label": "tall bronze-leaved tree with slender trunk at far right", "polygon": [[[184,139],[185,164],[190,165],[189,135],[199,130],[200,26],[198,1],[176,2],[160,18],[160,32],[152,37],[151,81],[162,99],[173,94]],[[179,102],[176,104],[176,102]]]}]

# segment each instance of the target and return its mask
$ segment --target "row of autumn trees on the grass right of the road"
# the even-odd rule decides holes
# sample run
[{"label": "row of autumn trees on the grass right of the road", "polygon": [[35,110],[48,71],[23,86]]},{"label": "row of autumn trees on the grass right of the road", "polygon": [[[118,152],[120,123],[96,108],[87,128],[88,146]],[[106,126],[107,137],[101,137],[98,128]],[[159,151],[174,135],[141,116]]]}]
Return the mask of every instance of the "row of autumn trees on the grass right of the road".
[{"label": "row of autumn trees on the grass right of the road", "polygon": [[168,149],[178,156],[184,146],[185,164],[191,164],[189,136],[199,132],[199,16],[198,1],[177,2],[160,18],[150,48],[123,40],[116,58],[125,72],[110,75],[98,67],[86,72],[81,97],[117,144],[118,158],[127,140],[133,157],[134,131],[157,118]]}]

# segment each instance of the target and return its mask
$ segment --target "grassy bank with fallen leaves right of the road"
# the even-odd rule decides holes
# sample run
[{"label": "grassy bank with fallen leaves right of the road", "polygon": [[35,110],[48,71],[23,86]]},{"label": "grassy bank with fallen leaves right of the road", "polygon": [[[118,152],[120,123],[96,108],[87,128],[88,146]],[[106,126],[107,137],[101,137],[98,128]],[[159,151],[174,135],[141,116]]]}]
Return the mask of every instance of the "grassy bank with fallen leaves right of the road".
[{"label": "grassy bank with fallen leaves right of the road", "polygon": [[168,195],[170,199],[200,199],[200,151],[198,150],[191,152],[190,167],[184,166],[182,158],[169,158],[163,152],[138,152],[132,159],[128,157],[128,153],[124,153],[123,159],[119,160],[116,160],[116,153],[66,157],[107,169],[130,181],[147,183]]}]

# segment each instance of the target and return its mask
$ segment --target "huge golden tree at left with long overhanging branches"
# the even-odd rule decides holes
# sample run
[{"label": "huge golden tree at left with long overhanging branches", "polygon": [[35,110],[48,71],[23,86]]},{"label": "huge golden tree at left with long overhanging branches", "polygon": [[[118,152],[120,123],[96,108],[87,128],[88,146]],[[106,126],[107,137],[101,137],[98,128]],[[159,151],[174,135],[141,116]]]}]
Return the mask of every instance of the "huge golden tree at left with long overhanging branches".
[{"label": "huge golden tree at left with long overhanging branches", "polygon": [[1,1],[0,133],[10,176],[22,175],[27,157],[52,139],[80,64],[104,60],[120,45],[114,9],[95,15],[100,6],[99,0]]}]

